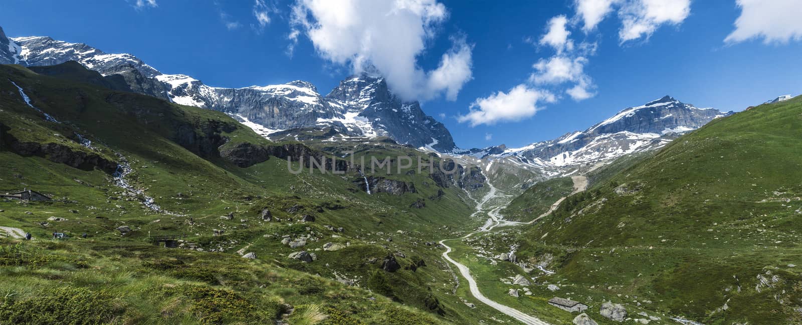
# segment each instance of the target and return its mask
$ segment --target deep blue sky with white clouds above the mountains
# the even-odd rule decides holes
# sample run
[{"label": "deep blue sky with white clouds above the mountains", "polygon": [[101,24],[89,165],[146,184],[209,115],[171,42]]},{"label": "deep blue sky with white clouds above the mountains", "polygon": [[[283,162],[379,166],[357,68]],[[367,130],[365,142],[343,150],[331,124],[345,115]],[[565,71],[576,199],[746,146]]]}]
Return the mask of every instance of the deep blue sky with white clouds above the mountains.
[{"label": "deep blue sky with white clouds above the mountains", "polygon": [[460,147],[556,138],[666,94],[743,110],[802,93],[799,0],[398,0],[410,13],[396,16],[398,3],[298,1],[5,0],[0,26],[210,86],[302,79],[326,94],[383,62],[391,86],[423,99]]}]

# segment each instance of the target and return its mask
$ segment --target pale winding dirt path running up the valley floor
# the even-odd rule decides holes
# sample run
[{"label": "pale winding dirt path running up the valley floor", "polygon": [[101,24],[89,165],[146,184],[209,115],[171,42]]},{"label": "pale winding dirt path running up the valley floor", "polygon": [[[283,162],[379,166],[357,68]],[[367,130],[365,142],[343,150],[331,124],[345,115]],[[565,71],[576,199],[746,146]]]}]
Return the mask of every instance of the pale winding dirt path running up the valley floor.
[{"label": "pale winding dirt path running up the valley floor", "polygon": [[[571,177],[571,179],[573,180],[573,193],[571,193],[572,195],[576,194],[578,192],[581,192],[581,191],[585,191],[585,189],[588,187],[588,179],[585,176],[573,176],[573,177]],[[489,181],[488,181],[488,186],[490,187],[490,191],[488,192],[487,195],[484,195],[484,198],[478,204],[476,204],[476,212],[474,212],[471,215],[472,217],[476,217],[476,215],[479,215],[480,213],[482,213],[482,211],[484,211],[484,204],[485,203],[488,203],[488,201],[490,201],[491,199],[496,198],[496,197],[499,196],[499,195],[496,195],[496,192],[497,192],[496,187],[493,187],[492,184]],[[449,240],[466,239],[466,238],[471,237],[472,235],[478,234],[480,232],[492,231],[493,228],[498,227],[498,226],[509,226],[509,225],[516,225],[516,224],[531,224],[531,223],[534,223],[538,219],[541,219],[541,218],[545,217],[546,215],[550,215],[555,209],[557,209],[557,207],[560,206],[560,203],[562,203],[562,201],[564,199],[565,199],[565,197],[561,198],[561,199],[558,199],[556,203],[552,204],[552,206],[549,208],[549,211],[546,211],[543,215],[540,215],[539,217],[537,217],[537,219],[534,219],[534,220],[530,221],[529,223],[516,223],[516,222],[510,222],[510,221],[501,220],[500,216],[498,215],[498,213],[504,206],[493,207],[491,211],[488,211],[488,216],[490,217],[490,219],[488,219],[487,223],[484,223],[484,226],[482,226],[479,229],[479,231],[474,231],[474,232],[472,232],[472,233],[470,233],[468,235],[464,235],[464,236],[462,236],[460,238],[457,238],[457,239],[443,239],[443,240],[439,241],[440,245],[443,245],[444,247],[446,247],[446,251],[443,252],[443,258],[446,259],[448,261],[448,263],[454,264],[454,266],[456,266],[457,269],[460,270],[460,274],[465,279],[468,280],[468,288],[471,291],[471,295],[473,295],[480,302],[492,307],[493,309],[496,309],[496,311],[502,312],[504,315],[508,315],[508,316],[512,317],[513,319],[518,320],[520,323],[525,323],[527,325],[551,325],[551,324],[546,323],[545,321],[543,321],[541,319],[538,319],[537,317],[535,317],[533,315],[528,315],[523,311],[519,311],[519,310],[517,310],[515,308],[508,307],[508,306],[503,305],[501,303],[496,303],[496,301],[493,301],[492,299],[489,299],[488,297],[485,297],[484,295],[482,295],[481,291],[479,291],[479,285],[476,283],[476,279],[473,279],[473,276],[471,275],[471,270],[468,267],[464,266],[463,264],[461,264],[461,263],[457,262],[456,260],[452,259],[450,256],[448,256],[448,253],[452,252],[452,247],[449,247],[448,245],[446,245],[445,242],[447,242]]]}]

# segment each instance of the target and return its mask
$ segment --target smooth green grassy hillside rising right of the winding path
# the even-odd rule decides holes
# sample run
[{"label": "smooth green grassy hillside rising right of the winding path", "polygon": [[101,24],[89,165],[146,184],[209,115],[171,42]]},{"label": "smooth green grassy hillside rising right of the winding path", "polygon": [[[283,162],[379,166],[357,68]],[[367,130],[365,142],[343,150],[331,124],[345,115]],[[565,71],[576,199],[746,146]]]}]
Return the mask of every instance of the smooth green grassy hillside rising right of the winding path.
[{"label": "smooth green grassy hillside rising right of the winding path", "polygon": [[[802,98],[716,119],[522,235],[581,295],[705,324],[802,322]],[[640,307],[638,307],[640,306]]]}]

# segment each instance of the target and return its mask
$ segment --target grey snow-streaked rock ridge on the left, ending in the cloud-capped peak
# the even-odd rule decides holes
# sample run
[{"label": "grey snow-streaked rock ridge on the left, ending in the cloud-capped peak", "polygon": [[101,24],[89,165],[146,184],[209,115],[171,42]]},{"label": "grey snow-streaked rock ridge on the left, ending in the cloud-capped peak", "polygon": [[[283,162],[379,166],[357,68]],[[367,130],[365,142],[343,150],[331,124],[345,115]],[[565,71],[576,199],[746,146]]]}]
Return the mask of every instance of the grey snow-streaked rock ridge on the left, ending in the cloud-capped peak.
[{"label": "grey snow-streaked rock ridge on the left, ending in the cloud-capped peak", "polygon": [[79,62],[103,74],[112,89],[130,90],[182,105],[220,110],[241,122],[270,130],[332,126],[349,135],[393,138],[411,146],[455,148],[445,126],[403,102],[383,78],[360,74],[346,78],[325,97],[309,82],[231,89],[206,86],[184,74],[162,74],[131,54],[107,54],[83,43],[48,37],[6,38],[0,30],[0,63],[53,66]]}]

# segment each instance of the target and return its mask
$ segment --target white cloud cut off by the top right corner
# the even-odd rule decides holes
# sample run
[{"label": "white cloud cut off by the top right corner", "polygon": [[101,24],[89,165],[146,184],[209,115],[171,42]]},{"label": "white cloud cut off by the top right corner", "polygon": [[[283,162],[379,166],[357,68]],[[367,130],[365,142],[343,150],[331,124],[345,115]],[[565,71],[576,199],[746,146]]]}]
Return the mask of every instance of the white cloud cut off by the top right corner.
[{"label": "white cloud cut off by the top right corner", "polygon": [[741,15],[724,42],[763,38],[765,43],[802,40],[799,0],[737,0]]}]

